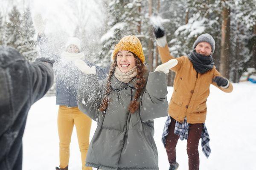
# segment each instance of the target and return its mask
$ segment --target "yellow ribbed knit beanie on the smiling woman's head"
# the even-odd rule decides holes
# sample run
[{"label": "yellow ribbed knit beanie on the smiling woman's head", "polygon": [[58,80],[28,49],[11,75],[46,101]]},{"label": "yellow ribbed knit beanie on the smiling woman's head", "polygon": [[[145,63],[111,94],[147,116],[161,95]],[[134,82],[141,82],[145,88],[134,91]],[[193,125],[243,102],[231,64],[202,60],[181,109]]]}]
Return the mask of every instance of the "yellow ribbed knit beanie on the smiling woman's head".
[{"label": "yellow ribbed knit beanie on the smiling woman's head", "polygon": [[116,44],[115,49],[113,51],[112,57],[115,59],[116,54],[121,51],[131,51],[133,52],[137,57],[139,57],[140,61],[144,63],[145,57],[142,49],[142,45],[140,43],[140,40],[135,37],[134,35],[127,35],[123,37],[118,44]]}]

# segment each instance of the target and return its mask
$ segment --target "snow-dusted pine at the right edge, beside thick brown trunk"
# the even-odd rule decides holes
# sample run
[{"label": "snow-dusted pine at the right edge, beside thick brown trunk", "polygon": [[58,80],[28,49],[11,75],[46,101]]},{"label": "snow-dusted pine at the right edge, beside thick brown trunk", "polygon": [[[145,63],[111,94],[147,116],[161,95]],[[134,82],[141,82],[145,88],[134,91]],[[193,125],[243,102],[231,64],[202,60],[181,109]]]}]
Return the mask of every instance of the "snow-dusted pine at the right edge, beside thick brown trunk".
[{"label": "snow-dusted pine at the right edge, beside thick brown trunk", "polygon": [[[256,66],[253,59],[253,25],[256,21],[255,0],[236,0],[231,11],[231,63],[230,78],[233,82],[239,82],[241,74],[248,67]],[[256,32],[254,33],[256,35]],[[251,44],[250,44],[251,42]]]}]

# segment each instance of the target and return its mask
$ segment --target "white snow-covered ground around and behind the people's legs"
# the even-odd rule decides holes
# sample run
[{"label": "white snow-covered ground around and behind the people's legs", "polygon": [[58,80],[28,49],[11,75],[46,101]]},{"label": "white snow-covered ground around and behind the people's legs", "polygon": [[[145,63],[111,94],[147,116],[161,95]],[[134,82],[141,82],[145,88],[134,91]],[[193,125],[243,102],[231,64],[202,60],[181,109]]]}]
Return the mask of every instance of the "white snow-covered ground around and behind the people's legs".
[{"label": "white snow-covered ground around and behind the people's legs", "polygon": [[[169,88],[168,100],[172,94]],[[201,151],[201,170],[255,170],[256,169],[256,85],[250,82],[234,84],[231,94],[211,86],[207,100],[207,129],[212,153],[208,159]],[[28,116],[23,137],[23,169],[54,170],[58,166],[58,132],[55,97],[44,97],[36,102]],[[155,119],[155,136],[159,169],[168,170],[169,164],[161,143],[166,118]],[[93,122],[92,138],[96,122]],[[69,170],[81,170],[79,147],[74,128],[70,144]],[[179,170],[188,169],[186,141],[177,144]]]}]

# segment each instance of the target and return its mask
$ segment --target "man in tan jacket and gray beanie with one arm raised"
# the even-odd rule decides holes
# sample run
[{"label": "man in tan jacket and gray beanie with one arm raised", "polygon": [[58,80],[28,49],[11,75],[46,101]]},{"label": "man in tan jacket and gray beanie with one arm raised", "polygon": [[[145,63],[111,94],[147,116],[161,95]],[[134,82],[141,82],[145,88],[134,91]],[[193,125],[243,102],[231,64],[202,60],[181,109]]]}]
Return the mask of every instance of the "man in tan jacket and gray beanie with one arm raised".
[{"label": "man in tan jacket and gray beanie with one arm raised", "polygon": [[[155,36],[160,57],[163,63],[174,59],[166,42],[162,28],[155,28]],[[193,45],[194,50],[188,56],[177,57],[177,65],[171,68],[175,71],[174,91],[169,102],[169,116],[163,133],[163,143],[166,147],[170,169],[176,170],[176,144],[178,139],[187,139],[187,154],[189,170],[199,169],[198,142],[202,138],[202,148],[208,157],[209,135],[204,124],[207,113],[206,101],[209,96],[209,86],[215,85],[221,91],[230,93],[233,86],[228,79],[217,71],[212,53],[215,41],[209,34],[200,35]],[[207,147],[208,146],[208,147]]]}]

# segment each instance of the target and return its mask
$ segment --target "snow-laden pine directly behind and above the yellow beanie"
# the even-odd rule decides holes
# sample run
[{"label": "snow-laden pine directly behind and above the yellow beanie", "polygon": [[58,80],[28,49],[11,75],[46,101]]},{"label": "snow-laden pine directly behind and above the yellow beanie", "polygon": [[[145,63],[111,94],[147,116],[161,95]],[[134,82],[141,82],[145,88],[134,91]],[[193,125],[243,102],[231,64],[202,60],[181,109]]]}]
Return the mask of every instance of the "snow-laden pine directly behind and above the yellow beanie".
[{"label": "snow-laden pine directly behind and above the yellow beanie", "polygon": [[102,63],[109,63],[114,45],[125,35],[137,35],[140,30],[140,3],[133,0],[106,0],[106,33],[101,37]]}]

